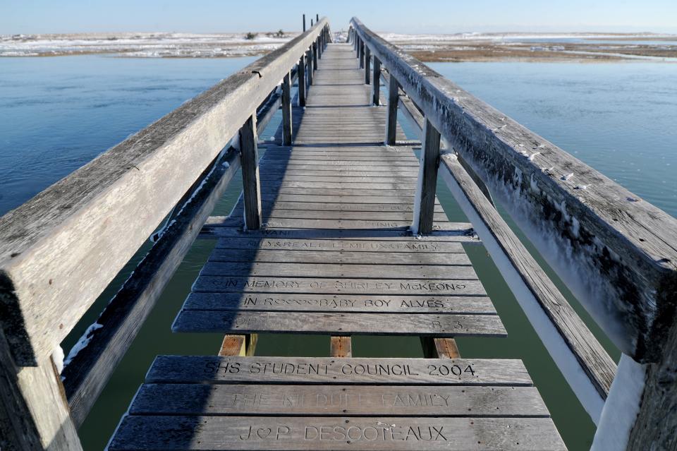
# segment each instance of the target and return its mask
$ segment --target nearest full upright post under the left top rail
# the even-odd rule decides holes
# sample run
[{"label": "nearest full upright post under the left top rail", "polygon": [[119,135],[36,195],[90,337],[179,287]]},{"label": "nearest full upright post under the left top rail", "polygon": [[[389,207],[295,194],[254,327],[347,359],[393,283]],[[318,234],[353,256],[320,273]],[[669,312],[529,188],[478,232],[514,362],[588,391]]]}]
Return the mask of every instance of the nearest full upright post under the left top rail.
[{"label": "nearest full upright post under the left top rail", "polygon": [[240,159],[242,160],[245,227],[247,230],[258,230],[261,228],[261,184],[255,114],[250,116],[240,128]]}]

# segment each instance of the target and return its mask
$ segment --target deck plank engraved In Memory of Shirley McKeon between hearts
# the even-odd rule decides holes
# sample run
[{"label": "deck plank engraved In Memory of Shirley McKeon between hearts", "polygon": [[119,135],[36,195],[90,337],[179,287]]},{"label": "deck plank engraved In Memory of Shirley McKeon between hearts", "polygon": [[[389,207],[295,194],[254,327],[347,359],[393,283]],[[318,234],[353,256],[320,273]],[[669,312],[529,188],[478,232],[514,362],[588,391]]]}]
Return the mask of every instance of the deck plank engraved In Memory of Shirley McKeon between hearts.
[{"label": "deck plank engraved In Memory of Shirley McKeon between hearts", "polygon": [[484,296],[477,280],[313,279],[295,277],[202,276],[193,291],[207,293],[434,294]]}]

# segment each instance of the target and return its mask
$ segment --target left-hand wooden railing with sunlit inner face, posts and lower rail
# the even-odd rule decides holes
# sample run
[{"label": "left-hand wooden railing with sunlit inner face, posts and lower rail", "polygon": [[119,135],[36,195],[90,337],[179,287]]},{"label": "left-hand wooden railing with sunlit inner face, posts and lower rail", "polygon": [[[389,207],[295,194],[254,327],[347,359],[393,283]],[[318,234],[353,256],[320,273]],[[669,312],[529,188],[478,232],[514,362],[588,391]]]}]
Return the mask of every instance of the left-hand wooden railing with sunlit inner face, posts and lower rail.
[{"label": "left-hand wooden railing with sunlit inner face, posts and lower rail", "polygon": [[[79,450],[76,433],[240,167],[261,224],[257,126],[298,102],[327,19],[0,218],[0,449]],[[59,373],[55,349],[140,246],[156,242]],[[64,395],[65,394],[65,395]]]}]

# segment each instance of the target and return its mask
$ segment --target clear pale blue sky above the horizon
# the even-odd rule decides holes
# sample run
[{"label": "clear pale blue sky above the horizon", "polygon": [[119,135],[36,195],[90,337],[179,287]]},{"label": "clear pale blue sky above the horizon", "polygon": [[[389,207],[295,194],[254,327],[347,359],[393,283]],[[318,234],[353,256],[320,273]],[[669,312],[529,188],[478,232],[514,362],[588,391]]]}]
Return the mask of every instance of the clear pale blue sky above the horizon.
[{"label": "clear pale blue sky above the horizon", "polygon": [[332,28],[358,16],[394,32],[677,33],[677,0],[0,0],[0,34],[96,31],[300,30],[301,14]]}]

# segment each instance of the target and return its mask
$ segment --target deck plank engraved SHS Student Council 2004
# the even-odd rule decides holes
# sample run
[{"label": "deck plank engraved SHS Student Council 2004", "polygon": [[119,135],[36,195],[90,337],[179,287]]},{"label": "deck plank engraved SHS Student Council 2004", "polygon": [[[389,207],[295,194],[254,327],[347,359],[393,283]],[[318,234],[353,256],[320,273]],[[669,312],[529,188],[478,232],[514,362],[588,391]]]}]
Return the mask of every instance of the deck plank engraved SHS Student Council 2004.
[{"label": "deck plank engraved SHS Student Council 2004", "polygon": [[157,356],[148,383],[532,385],[516,359]]}]

